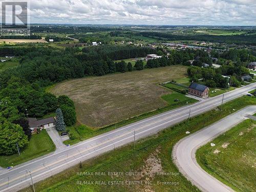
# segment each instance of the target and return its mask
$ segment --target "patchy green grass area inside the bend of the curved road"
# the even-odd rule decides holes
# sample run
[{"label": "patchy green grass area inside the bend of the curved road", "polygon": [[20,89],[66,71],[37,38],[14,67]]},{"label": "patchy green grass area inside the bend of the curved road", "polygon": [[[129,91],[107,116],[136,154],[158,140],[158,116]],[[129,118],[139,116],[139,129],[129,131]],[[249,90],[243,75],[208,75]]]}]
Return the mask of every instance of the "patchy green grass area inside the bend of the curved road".
[{"label": "patchy green grass area inside the bend of the curved road", "polygon": [[247,119],[199,148],[197,161],[209,174],[236,191],[255,191],[256,121]]}]

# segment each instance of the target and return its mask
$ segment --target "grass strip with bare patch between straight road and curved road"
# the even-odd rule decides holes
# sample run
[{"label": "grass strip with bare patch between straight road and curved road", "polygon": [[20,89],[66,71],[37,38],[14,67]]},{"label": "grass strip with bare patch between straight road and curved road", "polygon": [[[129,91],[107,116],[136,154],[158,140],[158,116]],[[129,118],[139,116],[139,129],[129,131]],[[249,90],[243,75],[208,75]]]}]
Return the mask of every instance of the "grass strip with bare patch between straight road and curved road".
[{"label": "grass strip with bare patch between straight road and curved road", "polygon": [[[241,97],[223,105],[222,111],[215,109],[197,117],[190,118],[175,126],[169,127],[157,135],[129,144],[115,151],[69,168],[55,176],[35,184],[36,191],[198,191],[181,174],[172,161],[172,148],[176,142],[186,136],[185,132],[193,133],[210,125],[223,117],[234,113],[247,105],[256,104],[256,100]],[[233,111],[235,109],[236,111]],[[93,172],[91,176],[79,176],[77,172]],[[95,175],[103,172],[106,175]],[[142,172],[151,176],[133,176],[129,174],[109,176],[108,172]],[[165,172],[170,175],[159,176],[156,173]],[[79,181],[151,181],[152,185],[79,185]],[[158,185],[158,181],[173,181],[177,185]],[[26,188],[22,191],[32,191]]]}]

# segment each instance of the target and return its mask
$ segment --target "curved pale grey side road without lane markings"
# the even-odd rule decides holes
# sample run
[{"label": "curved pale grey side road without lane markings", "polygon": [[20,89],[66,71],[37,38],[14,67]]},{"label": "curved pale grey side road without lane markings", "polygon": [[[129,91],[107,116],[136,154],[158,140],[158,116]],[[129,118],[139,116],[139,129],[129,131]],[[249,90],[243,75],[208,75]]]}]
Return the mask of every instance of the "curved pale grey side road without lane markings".
[{"label": "curved pale grey side road without lane markings", "polygon": [[229,115],[217,123],[181,139],[175,144],[172,154],[173,161],[180,172],[202,191],[233,191],[230,187],[206,173],[197,163],[195,153],[200,146],[242,122],[246,119],[246,115],[254,113],[256,113],[256,105],[247,106],[237,113]]}]

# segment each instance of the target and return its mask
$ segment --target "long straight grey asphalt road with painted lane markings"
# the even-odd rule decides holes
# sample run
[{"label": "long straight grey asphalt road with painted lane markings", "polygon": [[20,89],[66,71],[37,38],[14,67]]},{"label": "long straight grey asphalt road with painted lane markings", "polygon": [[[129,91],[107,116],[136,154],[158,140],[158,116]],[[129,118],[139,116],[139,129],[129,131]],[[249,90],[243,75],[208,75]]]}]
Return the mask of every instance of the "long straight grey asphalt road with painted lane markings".
[{"label": "long straight grey asphalt road with painted lane markings", "polygon": [[[225,93],[224,102],[247,94],[255,88],[256,83]],[[120,127],[119,129],[101,134],[76,145],[69,146],[65,150],[48,154],[46,156],[17,165],[0,174],[0,191],[17,191],[31,185],[29,170],[33,182],[45,179],[61,172],[80,161],[90,159],[105,152],[114,150],[115,147],[153,135],[160,130],[181,122],[190,116],[195,116],[205,111],[214,109],[222,102],[222,95],[208,98],[191,105],[186,105],[176,110],[146,118],[135,123]]]}]

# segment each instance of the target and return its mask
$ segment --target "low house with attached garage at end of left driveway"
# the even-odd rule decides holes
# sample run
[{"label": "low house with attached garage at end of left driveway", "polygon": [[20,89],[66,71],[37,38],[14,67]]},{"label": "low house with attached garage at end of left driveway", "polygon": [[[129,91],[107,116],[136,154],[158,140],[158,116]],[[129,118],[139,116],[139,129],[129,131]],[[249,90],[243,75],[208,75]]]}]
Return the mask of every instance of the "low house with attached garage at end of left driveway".
[{"label": "low house with attached garage at end of left driveway", "polygon": [[56,122],[54,117],[39,120],[37,120],[36,118],[28,118],[28,121],[31,133],[36,133],[38,130],[54,127]]}]

